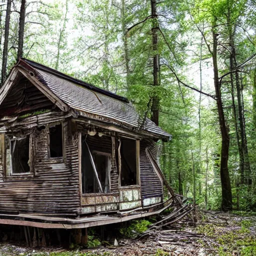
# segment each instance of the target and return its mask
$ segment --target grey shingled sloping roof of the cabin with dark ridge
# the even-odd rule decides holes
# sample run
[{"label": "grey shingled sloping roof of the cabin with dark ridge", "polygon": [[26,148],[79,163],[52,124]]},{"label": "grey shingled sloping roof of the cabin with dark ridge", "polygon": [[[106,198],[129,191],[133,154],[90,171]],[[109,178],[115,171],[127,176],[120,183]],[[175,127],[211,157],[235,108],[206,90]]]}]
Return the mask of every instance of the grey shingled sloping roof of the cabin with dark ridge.
[{"label": "grey shingled sloping roof of the cabin with dark ridge", "polygon": [[32,72],[55,96],[74,110],[104,116],[113,123],[118,122],[135,130],[144,130],[158,138],[171,137],[150,119],[146,118],[143,122],[144,117],[138,114],[125,97],[25,58],[20,58],[16,66],[22,66]]}]

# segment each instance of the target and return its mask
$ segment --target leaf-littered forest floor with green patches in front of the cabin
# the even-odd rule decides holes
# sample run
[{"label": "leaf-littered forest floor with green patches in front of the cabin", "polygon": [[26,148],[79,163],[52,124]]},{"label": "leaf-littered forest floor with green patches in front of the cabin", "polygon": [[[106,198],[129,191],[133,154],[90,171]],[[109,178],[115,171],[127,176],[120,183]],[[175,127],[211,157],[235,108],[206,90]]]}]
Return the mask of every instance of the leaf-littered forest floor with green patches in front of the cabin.
[{"label": "leaf-littered forest floor with green patches in front of the cabin", "polygon": [[[236,213],[236,214],[235,214]],[[94,249],[61,247],[31,249],[0,243],[0,256],[116,256],[116,255],[256,255],[256,214],[203,212],[196,224],[179,222],[144,233],[139,239],[119,238],[118,246]],[[239,215],[238,215],[239,214]]]}]

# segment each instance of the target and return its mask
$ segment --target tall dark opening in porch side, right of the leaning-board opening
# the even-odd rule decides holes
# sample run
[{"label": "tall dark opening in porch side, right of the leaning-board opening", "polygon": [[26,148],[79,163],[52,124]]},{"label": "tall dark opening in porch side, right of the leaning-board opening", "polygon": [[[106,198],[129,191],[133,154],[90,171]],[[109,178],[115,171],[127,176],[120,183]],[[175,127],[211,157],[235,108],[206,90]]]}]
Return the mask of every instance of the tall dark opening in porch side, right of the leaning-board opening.
[{"label": "tall dark opening in porch side, right of the leaning-board opening", "polygon": [[137,184],[136,140],[120,138],[121,186]]}]

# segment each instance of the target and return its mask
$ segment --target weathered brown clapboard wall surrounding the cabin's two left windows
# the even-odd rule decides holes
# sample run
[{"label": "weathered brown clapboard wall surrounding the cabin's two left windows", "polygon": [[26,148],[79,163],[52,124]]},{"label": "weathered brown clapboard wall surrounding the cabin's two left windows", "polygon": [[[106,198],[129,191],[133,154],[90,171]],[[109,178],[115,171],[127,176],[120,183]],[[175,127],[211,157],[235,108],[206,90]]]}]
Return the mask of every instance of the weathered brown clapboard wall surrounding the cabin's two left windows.
[{"label": "weathered brown clapboard wall surrounding the cabin's two left windows", "polygon": [[[48,123],[63,123],[63,158],[49,158]],[[64,113],[50,112],[24,118],[7,134],[32,135],[31,173],[6,176],[3,172],[3,134],[0,133],[0,212],[75,214],[79,211],[78,134]]]}]

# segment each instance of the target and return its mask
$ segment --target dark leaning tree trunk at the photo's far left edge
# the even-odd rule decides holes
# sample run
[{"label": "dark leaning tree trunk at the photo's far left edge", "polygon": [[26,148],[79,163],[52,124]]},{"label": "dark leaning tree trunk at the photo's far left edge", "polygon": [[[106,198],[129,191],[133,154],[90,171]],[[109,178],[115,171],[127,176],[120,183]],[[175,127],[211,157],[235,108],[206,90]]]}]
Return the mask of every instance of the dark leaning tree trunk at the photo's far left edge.
[{"label": "dark leaning tree trunk at the photo's far left edge", "polygon": [[7,66],[7,57],[8,57],[8,41],[9,41],[9,27],[10,27],[10,7],[11,0],[7,0],[6,6],[6,17],[4,25],[4,42],[2,50],[2,71],[1,71],[1,84],[6,78],[6,66]]}]

